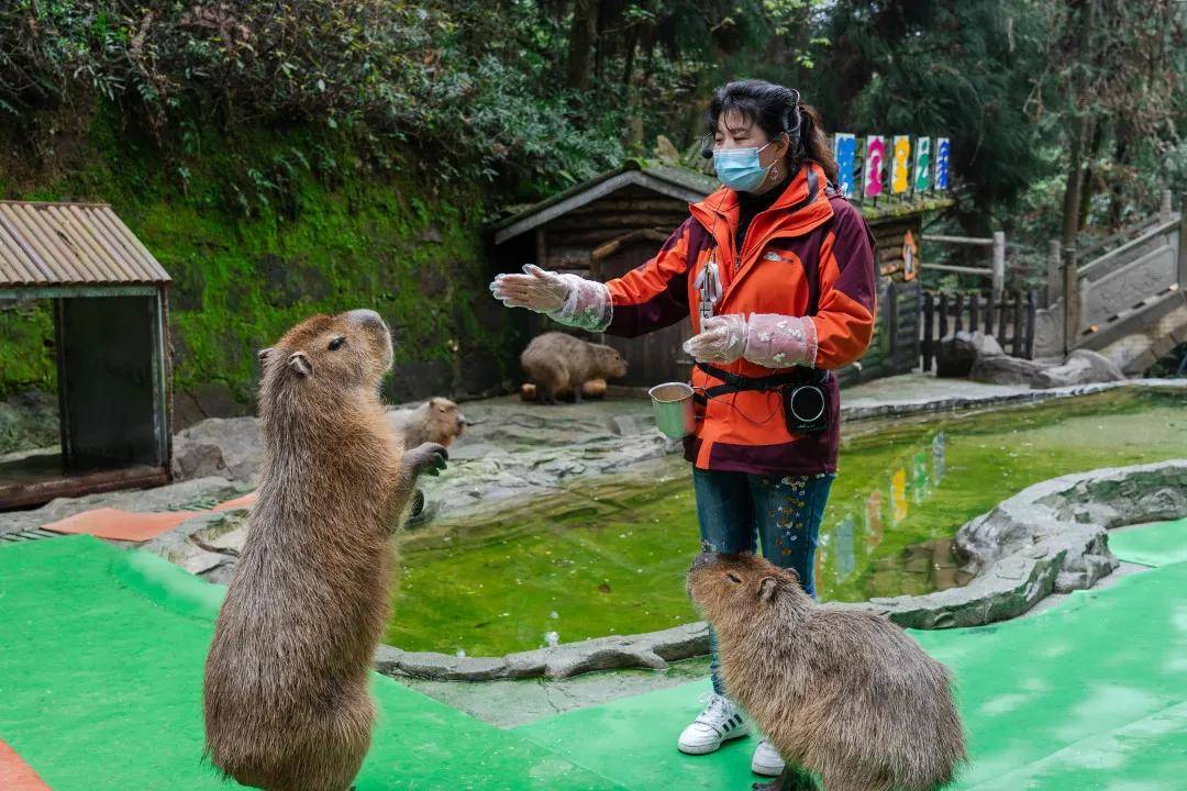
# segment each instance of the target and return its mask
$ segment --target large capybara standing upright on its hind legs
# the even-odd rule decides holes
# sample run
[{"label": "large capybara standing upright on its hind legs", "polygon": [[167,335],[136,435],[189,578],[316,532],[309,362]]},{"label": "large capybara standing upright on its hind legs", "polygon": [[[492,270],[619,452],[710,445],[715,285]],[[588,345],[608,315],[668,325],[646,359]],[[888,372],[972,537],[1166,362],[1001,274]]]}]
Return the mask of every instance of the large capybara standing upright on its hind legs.
[{"label": "large capybara standing upright on its hind legs", "polygon": [[345,791],[370,746],[389,525],[446,451],[402,451],[374,311],[313,315],[260,352],[259,499],[207,658],[207,754],[243,785]]}]

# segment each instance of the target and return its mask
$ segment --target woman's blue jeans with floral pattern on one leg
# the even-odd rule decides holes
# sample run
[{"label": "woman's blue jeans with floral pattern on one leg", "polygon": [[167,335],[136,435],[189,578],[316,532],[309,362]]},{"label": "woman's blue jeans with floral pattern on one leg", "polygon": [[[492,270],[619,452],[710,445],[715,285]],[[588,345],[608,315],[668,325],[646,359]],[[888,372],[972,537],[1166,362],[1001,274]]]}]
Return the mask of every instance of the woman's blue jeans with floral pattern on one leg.
[{"label": "woman's blue jeans with floral pattern on one leg", "polygon": [[[815,595],[813,566],[824,506],[834,473],[758,476],[692,470],[700,538],[723,553],[755,551],[756,538],[772,563],[795,569],[804,589]],[[723,693],[717,634],[709,631],[713,690]]]}]

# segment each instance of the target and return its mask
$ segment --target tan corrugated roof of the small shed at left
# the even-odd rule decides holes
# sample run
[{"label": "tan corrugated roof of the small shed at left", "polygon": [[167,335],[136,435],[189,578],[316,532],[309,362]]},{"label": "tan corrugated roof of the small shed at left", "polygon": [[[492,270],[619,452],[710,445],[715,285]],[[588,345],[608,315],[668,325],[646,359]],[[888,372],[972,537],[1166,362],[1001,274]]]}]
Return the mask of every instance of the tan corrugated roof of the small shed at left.
[{"label": "tan corrugated roof of the small shed at left", "polygon": [[169,280],[107,204],[0,200],[0,288]]}]

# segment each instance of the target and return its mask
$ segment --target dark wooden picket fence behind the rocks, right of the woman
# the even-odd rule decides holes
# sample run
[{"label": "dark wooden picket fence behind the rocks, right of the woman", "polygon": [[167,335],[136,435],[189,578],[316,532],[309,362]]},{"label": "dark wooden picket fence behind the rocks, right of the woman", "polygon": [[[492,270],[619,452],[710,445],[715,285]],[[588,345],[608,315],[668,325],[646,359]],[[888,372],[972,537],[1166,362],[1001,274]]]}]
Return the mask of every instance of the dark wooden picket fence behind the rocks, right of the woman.
[{"label": "dark wooden picket fence behind the rocks, right of the woman", "polygon": [[1032,359],[1035,345],[1034,291],[1003,292],[999,299],[979,292],[925,292],[922,339],[923,372],[931,372],[940,339],[960,332],[977,332],[997,338],[1002,350],[1014,357]]}]

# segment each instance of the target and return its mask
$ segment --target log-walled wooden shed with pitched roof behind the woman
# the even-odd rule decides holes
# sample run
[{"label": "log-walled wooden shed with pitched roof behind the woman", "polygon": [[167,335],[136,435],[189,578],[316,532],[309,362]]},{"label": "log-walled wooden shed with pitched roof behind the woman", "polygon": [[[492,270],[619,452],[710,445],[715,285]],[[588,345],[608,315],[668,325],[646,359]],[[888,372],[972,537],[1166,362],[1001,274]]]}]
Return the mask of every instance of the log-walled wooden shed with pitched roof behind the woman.
[{"label": "log-walled wooden shed with pitched roof behind the woman", "polygon": [[[668,235],[688,217],[691,202],[703,199],[717,180],[671,165],[628,162],[584,184],[521,209],[495,228],[500,272],[533,262],[546,269],[585,278],[617,278],[655,255]],[[922,218],[951,205],[945,197],[883,199],[858,204],[877,243],[878,324],[869,351],[857,365],[837,371],[840,382],[902,374],[919,365]],[[909,235],[909,237],[908,237]],[[910,261],[904,247],[913,243]],[[531,330],[546,321],[532,314]],[[596,338],[630,365],[618,384],[649,387],[688,378],[692,361],[681,344],[692,333],[688,320],[640,338]]]}]

